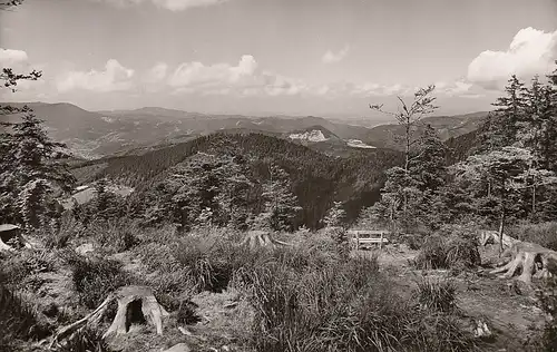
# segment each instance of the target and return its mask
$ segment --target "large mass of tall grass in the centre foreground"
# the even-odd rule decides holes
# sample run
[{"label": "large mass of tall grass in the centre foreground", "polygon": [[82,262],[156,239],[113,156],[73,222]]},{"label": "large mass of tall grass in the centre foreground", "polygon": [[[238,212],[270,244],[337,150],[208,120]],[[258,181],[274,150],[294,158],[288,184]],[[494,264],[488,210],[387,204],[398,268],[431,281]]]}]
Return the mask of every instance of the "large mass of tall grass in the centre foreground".
[{"label": "large mass of tall grass in the centre foreground", "polygon": [[[243,275],[255,312],[252,345],[257,351],[476,348],[473,336],[457,317],[442,311],[421,310],[400,297],[379,271],[377,258],[345,261],[335,255],[285,248],[260,258]],[[451,311],[447,307],[450,304],[441,303],[441,309]]]}]

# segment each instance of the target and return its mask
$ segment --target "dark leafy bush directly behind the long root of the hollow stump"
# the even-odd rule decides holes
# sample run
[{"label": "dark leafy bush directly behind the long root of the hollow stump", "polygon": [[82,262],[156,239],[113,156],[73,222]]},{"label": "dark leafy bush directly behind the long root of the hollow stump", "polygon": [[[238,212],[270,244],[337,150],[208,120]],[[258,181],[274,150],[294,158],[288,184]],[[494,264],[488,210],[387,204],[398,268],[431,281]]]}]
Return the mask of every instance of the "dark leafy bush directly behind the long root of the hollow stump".
[{"label": "dark leafy bush directly behind the long root of the hollow stump", "polygon": [[71,265],[74,289],[81,304],[96,309],[108,294],[120,286],[134,283],[121,270],[121,263],[107,258],[85,258],[72,255],[67,258]]}]

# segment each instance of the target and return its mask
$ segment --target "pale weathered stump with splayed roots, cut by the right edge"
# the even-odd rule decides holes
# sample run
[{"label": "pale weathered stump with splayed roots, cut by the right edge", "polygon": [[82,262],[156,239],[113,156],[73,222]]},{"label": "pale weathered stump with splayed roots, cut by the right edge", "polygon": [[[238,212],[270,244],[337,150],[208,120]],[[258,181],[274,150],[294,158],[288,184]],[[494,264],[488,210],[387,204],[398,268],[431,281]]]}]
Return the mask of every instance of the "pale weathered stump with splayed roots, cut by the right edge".
[{"label": "pale weathered stump with splayed roots, cut by the right edge", "polygon": [[[512,238],[514,239],[514,238]],[[557,252],[530,242],[517,241],[501,255],[504,265],[491,271],[491,274],[505,273],[501,277],[511,278],[519,273],[518,280],[530,284],[532,276],[548,277],[549,262],[557,262]]]}]

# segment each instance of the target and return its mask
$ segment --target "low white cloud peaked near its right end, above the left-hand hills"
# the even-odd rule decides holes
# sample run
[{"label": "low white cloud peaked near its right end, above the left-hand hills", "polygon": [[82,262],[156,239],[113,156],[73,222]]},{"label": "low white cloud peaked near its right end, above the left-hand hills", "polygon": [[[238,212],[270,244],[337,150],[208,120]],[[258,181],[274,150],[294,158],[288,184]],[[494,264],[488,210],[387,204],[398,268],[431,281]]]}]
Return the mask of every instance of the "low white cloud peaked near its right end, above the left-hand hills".
[{"label": "low white cloud peaked near its right end, above the left-hand hills", "polygon": [[130,78],[134,70],[121,66],[117,60],[110,59],[105,70],[97,71],[69,71],[58,77],[58,91],[65,92],[72,89],[84,89],[97,92],[128,90],[133,87]]}]

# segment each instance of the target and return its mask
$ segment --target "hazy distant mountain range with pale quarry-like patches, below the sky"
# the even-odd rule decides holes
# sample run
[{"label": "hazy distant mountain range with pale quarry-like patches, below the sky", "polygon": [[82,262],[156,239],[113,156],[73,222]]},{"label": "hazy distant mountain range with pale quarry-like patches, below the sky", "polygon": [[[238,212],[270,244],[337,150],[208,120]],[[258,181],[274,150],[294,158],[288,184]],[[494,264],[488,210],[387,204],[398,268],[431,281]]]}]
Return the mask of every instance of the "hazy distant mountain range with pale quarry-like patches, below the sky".
[{"label": "hazy distant mountain range with pale quarry-like patches, below the sky", "polygon": [[[159,107],[87,111],[65,102],[27,105],[45,120],[53,139],[66,143],[76,156],[82,158],[141,154],[215,131],[235,134],[255,131],[290,139],[315,149],[329,150],[332,154],[334,150],[348,153],[354,148],[401,149],[400,136],[403,135],[403,128],[398,125],[367,128],[314,116],[205,115]],[[443,139],[448,139],[476,130],[486,116],[487,113],[436,116],[423,119],[423,123],[431,125]],[[0,116],[0,120],[3,121],[14,121],[18,118]]]}]

